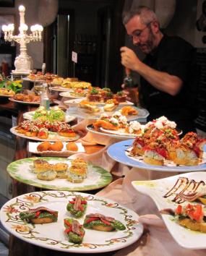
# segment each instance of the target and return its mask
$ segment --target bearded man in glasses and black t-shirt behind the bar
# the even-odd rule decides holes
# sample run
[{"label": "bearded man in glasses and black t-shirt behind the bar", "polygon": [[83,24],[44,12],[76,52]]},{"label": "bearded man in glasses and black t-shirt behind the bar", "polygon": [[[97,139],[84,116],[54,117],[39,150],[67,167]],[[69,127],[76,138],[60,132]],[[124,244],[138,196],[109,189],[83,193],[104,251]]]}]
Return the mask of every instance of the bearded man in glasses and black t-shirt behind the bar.
[{"label": "bearded man in glasses and black t-shirt behind the bar", "polygon": [[121,64],[140,74],[140,104],[150,112],[148,121],[166,116],[183,134],[195,132],[194,48],[182,38],[164,35],[148,7],[124,14],[123,23],[134,46],[146,55],[141,61],[132,49],[120,49]]}]

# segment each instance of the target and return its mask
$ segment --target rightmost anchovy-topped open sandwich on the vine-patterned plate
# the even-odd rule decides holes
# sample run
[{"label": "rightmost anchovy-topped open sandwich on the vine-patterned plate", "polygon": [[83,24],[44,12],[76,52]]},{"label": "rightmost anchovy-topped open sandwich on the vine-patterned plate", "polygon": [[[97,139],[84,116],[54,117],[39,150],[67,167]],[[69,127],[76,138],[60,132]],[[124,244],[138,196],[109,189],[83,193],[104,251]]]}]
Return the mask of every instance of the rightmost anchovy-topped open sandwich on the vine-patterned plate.
[{"label": "rightmost anchovy-topped open sandwich on the vine-patterned plate", "polygon": [[90,213],[85,217],[83,224],[86,229],[95,229],[98,231],[124,230],[126,227],[121,221],[115,218],[103,216],[100,213]]}]

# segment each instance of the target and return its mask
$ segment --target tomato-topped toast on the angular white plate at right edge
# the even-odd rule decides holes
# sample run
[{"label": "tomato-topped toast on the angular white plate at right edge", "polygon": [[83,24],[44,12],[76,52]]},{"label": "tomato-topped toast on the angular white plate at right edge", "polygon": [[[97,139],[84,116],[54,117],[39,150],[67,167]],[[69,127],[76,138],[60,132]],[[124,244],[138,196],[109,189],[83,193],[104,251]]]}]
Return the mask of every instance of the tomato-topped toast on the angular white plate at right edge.
[{"label": "tomato-topped toast on the angular white plate at right edge", "polygon": [[200,204],[178,205],[176,210],[163,209],[160,213],[174,216],[177,223],[187,229],[206,233],[206,212]]}]

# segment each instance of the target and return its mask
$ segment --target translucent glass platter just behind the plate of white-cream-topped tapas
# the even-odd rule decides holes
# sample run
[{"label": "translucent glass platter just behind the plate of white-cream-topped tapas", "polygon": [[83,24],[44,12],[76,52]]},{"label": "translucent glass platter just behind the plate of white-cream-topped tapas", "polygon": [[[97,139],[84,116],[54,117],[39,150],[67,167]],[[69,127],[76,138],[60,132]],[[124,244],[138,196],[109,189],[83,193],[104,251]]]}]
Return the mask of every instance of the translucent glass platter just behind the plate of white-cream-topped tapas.
[{"label": "translucent glass platter just behind the plate of white-cream-topped tapas", "polygon": [[[64,101],[65,102],[65,101]],[[77,116],[82,119],[100,119],[101,114],[107,114],[108,116],[111,116],[114,112],[119,111],[122,108],[121,105],[119,105],[114,111],[108,112],[108,111],[102,111],[95,113],[87,112],[86,109],[80,108],[78,106],[70,106],[69,109],[67,109],[66,113],[71,116]],[[126,116],[126,119],[128,121],[146,121],[147,116],[149,116],[149,112],[145,108],[137,108],[135,106],[132,106],[132,108],[135,108],[138,111],[137,115],[129,115]]]}]

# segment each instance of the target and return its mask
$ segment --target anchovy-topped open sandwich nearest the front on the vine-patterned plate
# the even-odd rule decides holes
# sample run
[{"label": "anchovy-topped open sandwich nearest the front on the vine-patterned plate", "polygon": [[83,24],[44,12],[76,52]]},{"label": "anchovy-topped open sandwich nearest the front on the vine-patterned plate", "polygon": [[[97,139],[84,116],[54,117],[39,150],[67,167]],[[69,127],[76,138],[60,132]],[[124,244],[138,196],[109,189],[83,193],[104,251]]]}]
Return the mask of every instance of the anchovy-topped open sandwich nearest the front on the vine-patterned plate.
[{"label": "anchovy-topped open sandwich nearest the front on the vine-patterned plate", "polygon": [[77,220],[64,218],[64,233],[69,237],[69,242],[81,244],[85,236],[85,230]]}]

